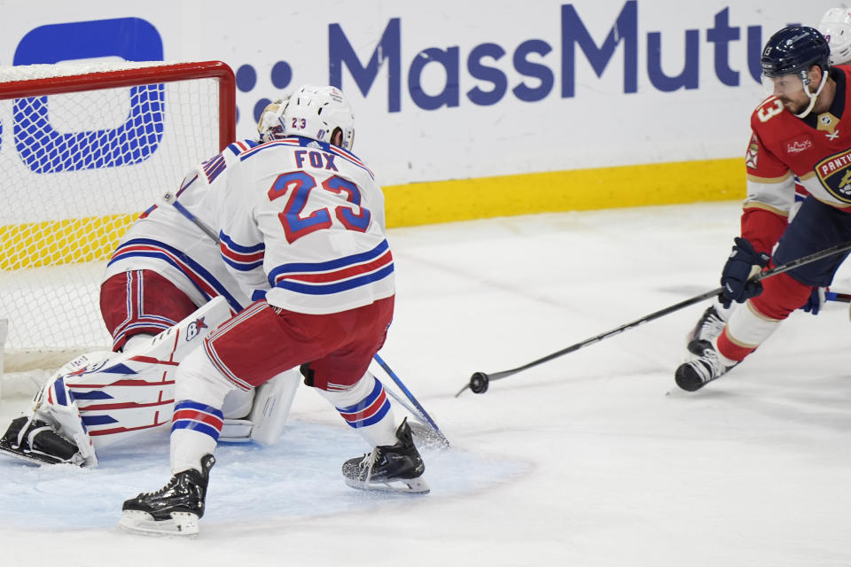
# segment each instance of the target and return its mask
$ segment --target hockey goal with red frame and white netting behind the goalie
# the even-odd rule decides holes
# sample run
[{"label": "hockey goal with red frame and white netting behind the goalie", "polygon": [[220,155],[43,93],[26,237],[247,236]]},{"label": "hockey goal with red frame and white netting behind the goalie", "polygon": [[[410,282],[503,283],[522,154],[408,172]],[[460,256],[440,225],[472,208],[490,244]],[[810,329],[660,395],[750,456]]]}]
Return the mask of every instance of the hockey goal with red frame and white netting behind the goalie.
[{"label": "hockey goal with red frame and white netting behind the goalie", "polygon": [[219,61],[0,66],[0,320],[5,371],[112,340],[98,291],[116,241],[233,141]]}]

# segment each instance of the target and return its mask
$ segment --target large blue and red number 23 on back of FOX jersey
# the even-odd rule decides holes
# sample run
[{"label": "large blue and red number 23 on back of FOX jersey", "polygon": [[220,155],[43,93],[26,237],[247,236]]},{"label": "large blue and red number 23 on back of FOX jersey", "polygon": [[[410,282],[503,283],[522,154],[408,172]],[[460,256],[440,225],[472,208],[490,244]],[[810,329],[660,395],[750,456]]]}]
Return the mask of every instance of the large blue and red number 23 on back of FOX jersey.
[{"label": "large blue and red number 23 on back of FOX jersey", "polygon": [[[284,210],[277,214],[284,227],[286,241],[293,244],[296,240],[316,230],[328,229],[332,225],[331,213],[327,208],[316,209],[304,215],[310,191],[316,189],[316,178],[303,171],[291,171],[277,176],[269,188],[269,200],[284,197],[289,192]],[[332,175],[322,182],[322,189],[338,195],[343,194],[352,206],[335,206],[334,216],[348,230],[366,232],[370,227],[371,213],[361,206],[361,191],[355,183]],[[355,207],[358,213],[355,213]]]}]

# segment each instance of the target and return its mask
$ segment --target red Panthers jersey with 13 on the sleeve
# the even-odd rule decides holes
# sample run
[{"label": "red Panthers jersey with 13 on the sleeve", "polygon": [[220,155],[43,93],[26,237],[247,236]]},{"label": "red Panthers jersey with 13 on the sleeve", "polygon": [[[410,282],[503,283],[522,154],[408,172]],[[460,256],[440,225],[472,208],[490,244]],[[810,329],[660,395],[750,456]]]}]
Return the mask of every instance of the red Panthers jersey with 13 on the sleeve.
[{"label": "red Panthers jersey with 13 on the sleeve", "polygon": [[841,121],[851,106],[851,66],[830,73],[836,94],[826,112],[800,119],[777,97],[768,97],[751,115],[742,236],[758,251],[771,252],[783,234],[795,177],[814,198],[851,212],[851,111]]}]

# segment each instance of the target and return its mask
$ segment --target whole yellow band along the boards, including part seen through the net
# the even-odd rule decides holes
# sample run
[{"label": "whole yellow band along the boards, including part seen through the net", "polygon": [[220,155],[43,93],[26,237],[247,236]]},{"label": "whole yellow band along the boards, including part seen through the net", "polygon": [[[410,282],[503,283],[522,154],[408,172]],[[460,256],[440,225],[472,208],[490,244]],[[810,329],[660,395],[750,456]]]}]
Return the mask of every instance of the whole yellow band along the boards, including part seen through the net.
[{"label": "whole yellow band along the boards, including part seen through the net", "polygon": [[[383,188],[388,227],[745,197],[742,159],[502,175]],[[105,260],[136,214],[0,227],[0,269]]]}]

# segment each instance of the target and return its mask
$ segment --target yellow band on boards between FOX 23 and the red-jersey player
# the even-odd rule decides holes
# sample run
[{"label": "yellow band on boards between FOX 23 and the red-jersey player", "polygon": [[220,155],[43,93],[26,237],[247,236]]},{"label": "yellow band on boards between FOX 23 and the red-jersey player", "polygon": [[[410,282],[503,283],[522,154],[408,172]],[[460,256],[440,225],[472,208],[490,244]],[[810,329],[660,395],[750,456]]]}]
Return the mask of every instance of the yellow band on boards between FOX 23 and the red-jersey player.
[{"label": "yellow band on boards between FOX 23 and the red-jersey player", "polygon": [[388,227],[515,214],[745,198],[743,159],[707,159],[390,185]]}]

